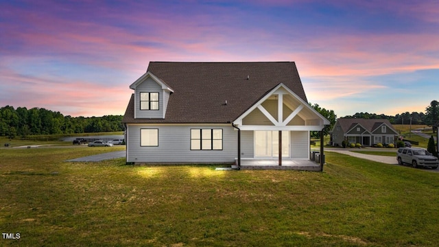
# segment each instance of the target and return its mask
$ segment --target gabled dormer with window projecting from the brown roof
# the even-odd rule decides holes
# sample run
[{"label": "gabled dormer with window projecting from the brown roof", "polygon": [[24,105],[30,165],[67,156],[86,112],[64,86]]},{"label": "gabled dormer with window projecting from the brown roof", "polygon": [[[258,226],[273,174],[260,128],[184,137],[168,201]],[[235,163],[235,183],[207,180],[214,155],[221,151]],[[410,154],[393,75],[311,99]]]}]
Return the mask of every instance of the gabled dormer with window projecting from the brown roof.
[{"label": "gabled dormer with window projecting from the brown roof", "polygon": [[134,90],[134,119],[165,119],[169,95],[174,90],[163,80],[147,71],[130,89]]}]

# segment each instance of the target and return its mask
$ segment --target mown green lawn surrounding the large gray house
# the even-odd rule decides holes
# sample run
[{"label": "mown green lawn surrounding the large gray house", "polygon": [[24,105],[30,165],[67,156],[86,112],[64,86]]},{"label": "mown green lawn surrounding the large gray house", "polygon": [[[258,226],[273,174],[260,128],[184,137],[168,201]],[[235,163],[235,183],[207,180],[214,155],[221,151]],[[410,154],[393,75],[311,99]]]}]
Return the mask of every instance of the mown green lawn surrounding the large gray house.
[{"label": "mown green lawn surrounding the large gray house", "polygon": [[[120,150],[123,147],[117,147]],[[327,152],[324,172],[0,150],[0,246],[437,246],[439,174]]]}]

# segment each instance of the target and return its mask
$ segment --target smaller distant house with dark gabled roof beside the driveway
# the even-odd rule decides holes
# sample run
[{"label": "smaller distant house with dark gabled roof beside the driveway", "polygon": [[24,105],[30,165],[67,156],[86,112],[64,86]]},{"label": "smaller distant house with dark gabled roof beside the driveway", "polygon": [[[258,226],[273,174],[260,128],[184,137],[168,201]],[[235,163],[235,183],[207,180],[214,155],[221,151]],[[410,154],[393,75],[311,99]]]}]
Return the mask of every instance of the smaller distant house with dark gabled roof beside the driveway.
[{"label": "smaller distant house with dark gabled roof beside the driveway", "polygon": [[337,119],[331,132],[333,145],[341,146],[342,141],[372,146],[396,143],[398,132],[387,119]]}]

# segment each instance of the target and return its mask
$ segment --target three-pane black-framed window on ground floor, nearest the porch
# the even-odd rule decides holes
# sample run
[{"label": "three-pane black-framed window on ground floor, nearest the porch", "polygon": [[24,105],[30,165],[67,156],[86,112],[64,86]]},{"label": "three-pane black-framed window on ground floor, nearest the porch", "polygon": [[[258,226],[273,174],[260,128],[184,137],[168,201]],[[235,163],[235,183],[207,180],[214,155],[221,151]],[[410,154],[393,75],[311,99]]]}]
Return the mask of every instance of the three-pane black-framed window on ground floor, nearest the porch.
[{"label": "three-pane black-framed window on ground floor, nearest the porch", "polygon": [[191,150],[222,150],[222,129],[191,129]]}]

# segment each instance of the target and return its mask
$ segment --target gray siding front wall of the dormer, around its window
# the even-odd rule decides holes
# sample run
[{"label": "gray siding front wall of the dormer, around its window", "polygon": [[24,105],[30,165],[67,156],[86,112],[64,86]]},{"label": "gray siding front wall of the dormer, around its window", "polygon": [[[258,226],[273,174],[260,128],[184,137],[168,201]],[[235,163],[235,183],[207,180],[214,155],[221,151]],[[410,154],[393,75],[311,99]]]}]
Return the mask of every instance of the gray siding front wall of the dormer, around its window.
[{"label": "gray siding front wall of the dormer, around its window", "polygon": [[[140,93],[147,92],[158,93],[158,110],[140,110]],[[134,102],[134,106],[136,108],[136,113],[134,116],[136,116],[136,118],[163,119],[163,90],[157,82],[155,82],[152,78],[147,78],[147,80],[137,86],[135,93],[136,96],[134,97],[134,99],[136,100],[136,102]]]}]

